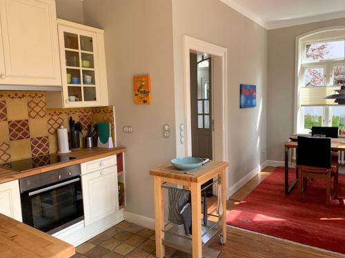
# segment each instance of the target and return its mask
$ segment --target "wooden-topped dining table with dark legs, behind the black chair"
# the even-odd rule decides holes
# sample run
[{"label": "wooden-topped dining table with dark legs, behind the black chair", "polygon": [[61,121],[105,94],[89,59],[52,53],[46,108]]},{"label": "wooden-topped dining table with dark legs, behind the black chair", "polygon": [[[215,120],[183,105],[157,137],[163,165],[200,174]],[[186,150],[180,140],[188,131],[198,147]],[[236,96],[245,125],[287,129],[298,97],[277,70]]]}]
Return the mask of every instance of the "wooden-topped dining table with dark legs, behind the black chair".
[{"label": "wooden-topped dining table with dark legs, behind the black chair", "polygon": [[[288,142],[284,144],[285,148],[285,194],[288,195],[298,182],[298,169],[296,169],[296,178],[289,184],[289,172],[288,172],[288,160],[289,160],[289,150],[298,149],[297,136],[290,137]],[[345,151],[345,138],[331,138],[331,151]]]}]

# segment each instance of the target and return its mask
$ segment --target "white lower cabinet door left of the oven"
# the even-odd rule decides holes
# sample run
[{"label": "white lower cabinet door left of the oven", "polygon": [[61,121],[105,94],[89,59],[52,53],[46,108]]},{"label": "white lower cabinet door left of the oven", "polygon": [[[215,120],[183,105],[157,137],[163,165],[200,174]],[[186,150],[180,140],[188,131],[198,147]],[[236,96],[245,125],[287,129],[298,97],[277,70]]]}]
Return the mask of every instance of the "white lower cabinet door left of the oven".
[{"label": "white lower cabinet door left of the oven", "polygon": [[22,222],[18,180],[0,184],[0,213]]}]

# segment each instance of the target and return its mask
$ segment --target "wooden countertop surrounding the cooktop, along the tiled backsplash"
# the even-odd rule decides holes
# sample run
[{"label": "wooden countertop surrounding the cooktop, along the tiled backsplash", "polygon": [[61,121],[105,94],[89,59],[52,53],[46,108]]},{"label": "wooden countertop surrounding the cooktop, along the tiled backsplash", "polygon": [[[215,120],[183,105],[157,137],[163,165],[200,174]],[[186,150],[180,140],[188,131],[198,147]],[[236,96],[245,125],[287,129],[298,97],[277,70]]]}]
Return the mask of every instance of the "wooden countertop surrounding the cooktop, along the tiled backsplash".
[{"label": "wooden countertop surrounding the cooktop, along the tiled backsplash", "polygon": [[28,171],[24,172],[17,172],[17,171],[12,171],[9,169],[4,169],[0,167],[0,184],[4,182],[9,182],[12,180],[17,180],[19,178],[25,178],[30,175],[36,175],[39,173],[44,173],[47,171],[51,171],[53,169],[60,169],[61,167],[65,166],[72,166],[75,164],[80,164],[83,162],[88,162],[90,160],[97,160],[99,158],[105,158],[110,155],[115,155],[121,152],[125,152],[126,148],[111,148],[111,149],[106,149],[106,148],[90,148],[90,149],[80,149],[77,151],[72,151],[70,153],[66,154],[57,154],[57,155],[63,155],[63,156],[69,156],[76,158],[75,160],[68,160],[66,162],[60,162],[58,164],[52,164],[48,166],[42,166],[37,169],[30,169]]}]

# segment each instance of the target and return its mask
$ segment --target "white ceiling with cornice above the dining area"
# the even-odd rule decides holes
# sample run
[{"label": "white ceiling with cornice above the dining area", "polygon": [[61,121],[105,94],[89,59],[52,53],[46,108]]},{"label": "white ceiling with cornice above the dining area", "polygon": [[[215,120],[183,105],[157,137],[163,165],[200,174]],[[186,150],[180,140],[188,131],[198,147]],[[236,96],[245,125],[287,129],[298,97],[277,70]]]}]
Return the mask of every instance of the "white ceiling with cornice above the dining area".
[{"label": "white ceiling with cornice above the dining area", "polygon": [[220,0],[272,30],[345,17],[345,0]]}]

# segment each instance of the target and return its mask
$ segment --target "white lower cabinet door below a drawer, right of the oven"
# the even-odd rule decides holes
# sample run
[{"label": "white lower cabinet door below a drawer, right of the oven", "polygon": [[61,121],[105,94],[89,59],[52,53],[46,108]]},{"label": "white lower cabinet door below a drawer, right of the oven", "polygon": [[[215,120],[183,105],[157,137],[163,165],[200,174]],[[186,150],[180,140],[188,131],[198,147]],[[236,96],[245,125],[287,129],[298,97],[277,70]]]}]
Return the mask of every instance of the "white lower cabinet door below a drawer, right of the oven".
[{"label": "white lower cabinet door below a drawer, right of the oven", "polygon": [[84,222],[88,226],[119,210],[117,166],[81,173]]}]

